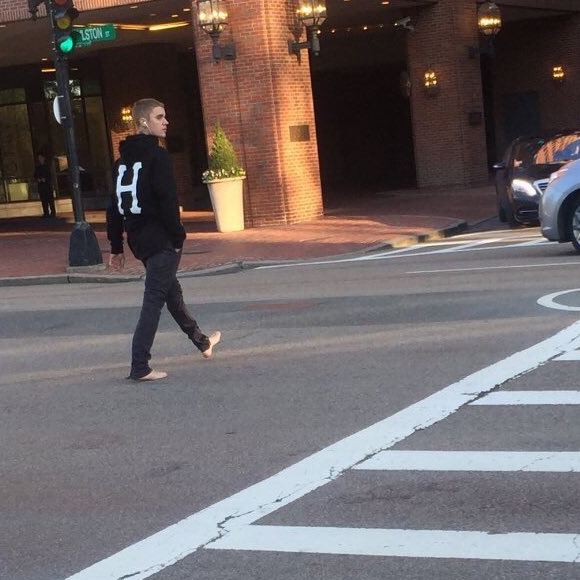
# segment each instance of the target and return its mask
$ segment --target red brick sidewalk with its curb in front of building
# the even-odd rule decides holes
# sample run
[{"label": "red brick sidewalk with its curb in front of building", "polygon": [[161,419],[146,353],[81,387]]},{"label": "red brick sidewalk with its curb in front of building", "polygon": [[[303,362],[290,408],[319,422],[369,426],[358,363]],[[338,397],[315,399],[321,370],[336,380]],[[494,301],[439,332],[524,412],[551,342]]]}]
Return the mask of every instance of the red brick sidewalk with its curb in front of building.
[{"label": "red brick sidewalk with its curb in front of building", "polygon": [[[181,275],[208,275],[292,260],[365,253],[451,235],[496,214],[493,187],[393,191],[345,201],[318,220],[293,226],[218,233],[211,212],[186,212],[188,232]],[[88,212],[109,258],[103,212]],[[123,272],[67,273],[72,224],[64,219],[0,222],[0,286],[67,282],[117,282],[144,273],[128,248]]]}]

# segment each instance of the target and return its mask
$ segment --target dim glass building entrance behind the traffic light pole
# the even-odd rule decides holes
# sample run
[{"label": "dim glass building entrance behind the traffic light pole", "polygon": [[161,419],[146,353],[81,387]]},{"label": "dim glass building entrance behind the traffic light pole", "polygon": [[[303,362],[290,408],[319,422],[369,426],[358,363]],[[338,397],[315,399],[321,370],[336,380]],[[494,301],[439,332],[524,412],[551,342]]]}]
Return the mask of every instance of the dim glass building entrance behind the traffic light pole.
[{"label": "dim glass building entrance behind the traffic light pole", "polygon": [[[78,63],[71,71],[75,130],[87,201],[106,195],[111,153],[107,139],[98,67]],[[64,132],[52,115],[56,83],[50,69],[18,67],[5,70],[0,81],[0,203],[14,215],[38,212],[34,178],[39,154],[48,161],[57,200],[70,198]],[[6,208],[4,208],[6,209]],[[8,216],[10,217],[10,216]]]}]

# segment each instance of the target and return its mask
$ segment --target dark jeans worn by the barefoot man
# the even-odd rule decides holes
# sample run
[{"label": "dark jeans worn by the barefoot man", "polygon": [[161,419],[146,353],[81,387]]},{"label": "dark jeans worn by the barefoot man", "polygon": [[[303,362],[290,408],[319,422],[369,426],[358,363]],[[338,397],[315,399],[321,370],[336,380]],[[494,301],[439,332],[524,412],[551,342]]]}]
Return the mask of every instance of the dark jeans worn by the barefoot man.
[{"label": "dark jeans worn by the barefoot man", "polygon": [[179,328],[200,351],[210,347],[209,338],[201,332],[183,303],[181,284],[176,277],[180,259],[181,251],[168,248],[143,261],[146,269],[145,292],[141,316],[133,335],[132,378],[142,378],[151,372],[151,347],[165,304]]}]

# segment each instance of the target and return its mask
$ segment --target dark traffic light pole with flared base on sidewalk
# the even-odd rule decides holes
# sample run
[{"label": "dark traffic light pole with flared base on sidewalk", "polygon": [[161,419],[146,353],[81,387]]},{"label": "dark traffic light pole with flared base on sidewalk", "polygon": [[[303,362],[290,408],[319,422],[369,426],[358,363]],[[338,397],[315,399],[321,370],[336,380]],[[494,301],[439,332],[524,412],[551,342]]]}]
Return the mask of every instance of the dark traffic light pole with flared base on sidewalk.
[{"label": "dark traffic light pole with flared base on sidewalk", "polygon": [[[52,18],[52,7],[50,2],[46,1],[47,14],[52,23],[54,33],[54,21]],[[69,268],[83,269],[103,268],[103,257],[99,248],[99,243],[91,225],[85,221],[85,212],[83,208],[83,198],[80,185],[80,165],[78,150],[74,131],[73,108],[70,94],[70,82],[68,71],[68,60],[61,55],[54,46],[54,65],[56,69],[56,83],[58,92],[58,101],[61,111],[60,122],[65,130],[67,145],[67,161],[69,182],[72,189],[72,205],[75,218],[75,225],[71,232],[69,243]]]}]

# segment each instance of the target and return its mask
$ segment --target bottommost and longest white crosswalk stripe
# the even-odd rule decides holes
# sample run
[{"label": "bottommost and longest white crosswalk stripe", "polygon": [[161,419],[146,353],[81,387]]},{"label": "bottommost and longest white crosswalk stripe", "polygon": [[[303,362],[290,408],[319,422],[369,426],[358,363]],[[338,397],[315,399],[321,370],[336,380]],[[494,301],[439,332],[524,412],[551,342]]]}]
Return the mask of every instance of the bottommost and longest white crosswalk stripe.
[{"label": "bottommost and longest white crosswalk stripe", "polygon": [[224,536],[207,548],[576,563],[580,557],[578,539],[578,534],[489,534],[479,531],[252,525]]}]

